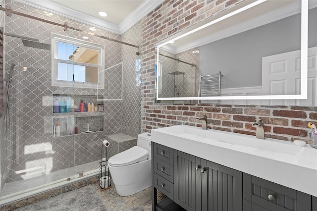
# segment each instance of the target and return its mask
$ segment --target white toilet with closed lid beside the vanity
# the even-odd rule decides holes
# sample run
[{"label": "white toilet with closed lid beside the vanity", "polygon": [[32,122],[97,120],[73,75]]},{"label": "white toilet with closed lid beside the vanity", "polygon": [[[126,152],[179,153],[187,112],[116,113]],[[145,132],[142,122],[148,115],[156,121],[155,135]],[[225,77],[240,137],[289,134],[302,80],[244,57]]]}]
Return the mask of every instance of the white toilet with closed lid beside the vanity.
[{"label": "white toilet with closed lid beside the vanity", "polygon": [[137,146],[109,158],[108,167],[120,196],[129,196],[150,187],[151,134],[139,134]]}]

